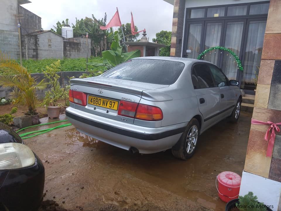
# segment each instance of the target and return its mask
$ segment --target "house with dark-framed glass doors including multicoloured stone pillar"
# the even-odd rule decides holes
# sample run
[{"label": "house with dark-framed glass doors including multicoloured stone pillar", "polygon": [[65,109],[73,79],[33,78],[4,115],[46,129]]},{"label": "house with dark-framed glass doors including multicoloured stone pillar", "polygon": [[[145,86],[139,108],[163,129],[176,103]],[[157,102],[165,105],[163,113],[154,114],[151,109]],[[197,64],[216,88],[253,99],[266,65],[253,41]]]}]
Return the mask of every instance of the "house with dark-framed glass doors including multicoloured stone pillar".
[{"label": "house with dark-framed glass doors including multicoloured stone pillar", "polygon": [[241,60],[243,72],[228,52],[212,50],[200,59],[239,80],[245,93],[254,94],[256,87],[239,195],[252,191],[260,202],[280,211],[281,0],[164,1],[174,5],[171,56],[197,58],[209,47],[229,48]]}]

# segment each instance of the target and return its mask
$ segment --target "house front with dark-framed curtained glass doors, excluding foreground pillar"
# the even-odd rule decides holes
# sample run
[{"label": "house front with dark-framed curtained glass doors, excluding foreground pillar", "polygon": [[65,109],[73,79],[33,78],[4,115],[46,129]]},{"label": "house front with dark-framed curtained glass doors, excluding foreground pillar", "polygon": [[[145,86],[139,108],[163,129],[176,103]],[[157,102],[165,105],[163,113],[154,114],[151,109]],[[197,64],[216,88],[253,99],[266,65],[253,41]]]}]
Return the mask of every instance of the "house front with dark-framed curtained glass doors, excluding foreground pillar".
[{"label": "house front with dark-framed curtained glass doors, excluding foreground pillar", "polygon": [[203,56],[222,69],[241,89],[254,94],[261,63],[269,1],[258,0],[165,0],[174,7],[171,56],[196,59],[209,47],[232,50],[244,71],[229,52],[213,50]]}]

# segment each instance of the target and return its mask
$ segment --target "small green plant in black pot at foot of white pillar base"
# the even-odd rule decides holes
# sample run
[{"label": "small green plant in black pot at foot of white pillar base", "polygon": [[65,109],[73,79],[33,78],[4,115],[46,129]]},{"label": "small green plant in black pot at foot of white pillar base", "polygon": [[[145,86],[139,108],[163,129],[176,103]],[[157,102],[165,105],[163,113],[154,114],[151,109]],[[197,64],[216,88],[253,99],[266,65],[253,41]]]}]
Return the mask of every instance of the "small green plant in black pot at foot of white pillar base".
[{"label": "small green plant in black pot at foot of white pillar base", "polygon": [[258,202],[258,197],[249,191],[248,194],[229,201],[225,206],[225,211],[272,211],[270,207]]}]

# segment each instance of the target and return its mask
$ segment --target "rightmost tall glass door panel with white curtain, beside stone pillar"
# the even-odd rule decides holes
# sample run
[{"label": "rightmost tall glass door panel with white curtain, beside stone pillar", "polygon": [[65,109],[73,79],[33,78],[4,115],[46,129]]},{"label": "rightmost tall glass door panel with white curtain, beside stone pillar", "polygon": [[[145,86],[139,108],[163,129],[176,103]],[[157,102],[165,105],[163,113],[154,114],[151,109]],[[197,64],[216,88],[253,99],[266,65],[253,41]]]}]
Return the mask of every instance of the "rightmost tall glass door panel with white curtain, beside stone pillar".
[{"label": "rightmost tall glass door panel with white curtain, beside stone pillar", "polygon": [[256,89],[255,82],[261,64],[266,20],[248,21],[247,41],[244,56],[244,89]]}]

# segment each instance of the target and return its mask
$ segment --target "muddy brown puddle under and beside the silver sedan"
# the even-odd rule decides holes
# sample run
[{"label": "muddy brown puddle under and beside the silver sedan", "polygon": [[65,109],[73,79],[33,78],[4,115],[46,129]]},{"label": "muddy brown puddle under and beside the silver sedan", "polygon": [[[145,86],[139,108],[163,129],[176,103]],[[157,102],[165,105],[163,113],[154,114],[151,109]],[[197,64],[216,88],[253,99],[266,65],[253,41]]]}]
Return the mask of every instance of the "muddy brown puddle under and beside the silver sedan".
[{"label": "muddy brown puddle under and beside the silver sedan", "polygon": [[[242,174],[251,126],[251,113],[241,113],[238,124],[226,120],[204,132],[194,156],[181,161],[170,150],[131,155],[123,149],[99,142],[75,128],[66,130],[65,141],[75,146],[99,148],[89,159],[112,165],[123,173],[188,198],[213,210],[225,210],[217,195],[216,176],[222,171]],[[89,174],[91,169],[89,169]]]}]

